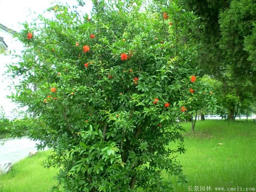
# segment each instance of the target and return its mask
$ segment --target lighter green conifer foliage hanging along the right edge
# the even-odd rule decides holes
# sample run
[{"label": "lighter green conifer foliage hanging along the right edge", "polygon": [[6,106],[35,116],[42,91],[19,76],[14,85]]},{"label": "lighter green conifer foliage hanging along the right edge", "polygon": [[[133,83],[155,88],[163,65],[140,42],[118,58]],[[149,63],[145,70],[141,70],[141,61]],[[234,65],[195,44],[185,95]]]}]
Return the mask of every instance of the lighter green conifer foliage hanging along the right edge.
[{"label": "lighter green conifer foliage hanging along the right edge", "polygon": [[[233,0],[230,8],[220,14],[220,47],[229,67],[230,79],[239,103],[248,99],[252,102],[256,86],[256,62],[253,59],[256,50],[253,38],[256,22],[255,0]],[[250,41],[250,42],[249,42]],[[235,103],[230,109],[235,108]],[[237,104],[239,106],[239,104]],[[238,112],[238,111],[237,111]],[[230,110],[230,118],[236,114]]]}]

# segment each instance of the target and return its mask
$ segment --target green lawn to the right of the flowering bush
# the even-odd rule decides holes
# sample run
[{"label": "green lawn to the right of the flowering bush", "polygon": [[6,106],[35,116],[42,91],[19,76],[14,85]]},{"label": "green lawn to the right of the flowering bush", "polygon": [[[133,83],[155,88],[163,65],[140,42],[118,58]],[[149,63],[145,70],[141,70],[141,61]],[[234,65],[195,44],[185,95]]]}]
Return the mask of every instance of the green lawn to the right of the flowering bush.
[{"label": "green lawn to the right of the flowering bush", "polygon": [[211,186],[212,191],[238,186],[239,190],[254,187],[256,191],[256,123],[198,121],[195,134],[191,134],[189,123],[182,125],[187,151],[177,161],[188,183],[175,184],[177,192],[187,192],[189,186],[193,191],[195,186],[199,191],[200,186]]}]

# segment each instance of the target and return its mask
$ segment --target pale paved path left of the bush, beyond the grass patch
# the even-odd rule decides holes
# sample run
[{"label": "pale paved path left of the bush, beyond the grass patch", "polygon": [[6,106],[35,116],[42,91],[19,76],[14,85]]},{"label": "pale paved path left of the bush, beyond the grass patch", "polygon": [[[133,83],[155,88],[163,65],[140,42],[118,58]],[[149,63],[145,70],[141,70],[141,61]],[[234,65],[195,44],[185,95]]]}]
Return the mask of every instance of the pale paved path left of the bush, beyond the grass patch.
[{"label": "pale paved path left of the bush, beyond the grass patch", "polygon": [[[2,143],[4,144],[2,145]],[[36,143],[28,137],[0,140],[0,167],[3,167],[6,163],[15,163],[28,157],[30,151],[37,151]]]}]

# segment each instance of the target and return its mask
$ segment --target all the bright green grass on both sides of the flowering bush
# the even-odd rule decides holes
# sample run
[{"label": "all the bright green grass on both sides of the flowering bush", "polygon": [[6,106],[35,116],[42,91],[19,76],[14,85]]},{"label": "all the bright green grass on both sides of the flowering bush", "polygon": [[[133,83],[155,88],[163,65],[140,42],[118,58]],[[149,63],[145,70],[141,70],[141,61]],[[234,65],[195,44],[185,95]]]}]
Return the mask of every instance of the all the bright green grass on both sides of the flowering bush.
[{"label": "all the bright green grass on both sides of the flowering bush", "polygon": [[[233,191],[246,191],[246,188],[256,191],[256,123],[198,121],[195,134],[190,132],[190,123],[182,125],[186,129],[187,151],[177,161],[183,165],[188,183],[174,182],[176,192],[188,192],[189,187],[195,191],[197,186],[198,191],[209,191],[207,186],[211,187],[210,191],[217,191],[215,187],[224,187],[226,191],[229,187],[236,188]],[[41,166],[47,154],[49,151],[16,163],[10,173],[0,176],[0,192],[47,192],[55,184],[53,176],[57,172]]]}]

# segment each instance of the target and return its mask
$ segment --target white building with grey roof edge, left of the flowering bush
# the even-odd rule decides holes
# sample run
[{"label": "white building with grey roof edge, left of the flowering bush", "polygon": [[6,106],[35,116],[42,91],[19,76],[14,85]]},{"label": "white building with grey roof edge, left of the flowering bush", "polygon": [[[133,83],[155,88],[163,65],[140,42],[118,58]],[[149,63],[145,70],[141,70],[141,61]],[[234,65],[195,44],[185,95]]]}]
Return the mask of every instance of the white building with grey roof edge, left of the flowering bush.
[{"label": "white building with grey roof edge, left of the flowering bush", "polygon": [[6,64],[17,62],[17,59],[4,53],[12,50],[19,53],[22,49],[22,44],[13,37],[15,33],[17,32],[0,24],[0,116],[2,116],[1,112],[4,112],[5,116],[9,119],[15,117],[12,111],[17,108],[17,105],[7,98],[13,91],[8,87],[12,84],[13,80],[5,75],[7,70]]}]

